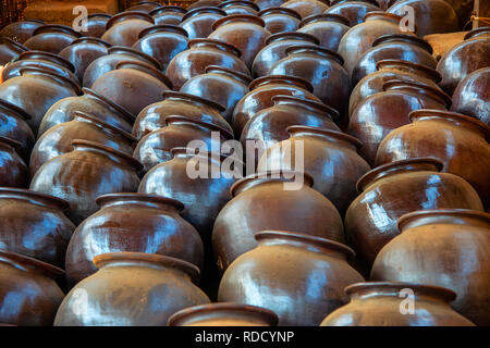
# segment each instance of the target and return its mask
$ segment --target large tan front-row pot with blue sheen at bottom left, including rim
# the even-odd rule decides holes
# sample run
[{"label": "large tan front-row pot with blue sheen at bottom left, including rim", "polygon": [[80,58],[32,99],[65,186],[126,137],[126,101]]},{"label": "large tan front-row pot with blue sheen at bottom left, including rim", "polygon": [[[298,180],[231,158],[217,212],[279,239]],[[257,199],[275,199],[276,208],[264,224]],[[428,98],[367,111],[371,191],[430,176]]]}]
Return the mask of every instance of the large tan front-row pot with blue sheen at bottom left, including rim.
[{"label": "large tan front-row pot with blue sheen at bottom left, including rim", "polygon": [[[110,252],[95,257],[95,274],[78,283],[58,310],[56,326],[164,326],[170,315],[209,298],[196,286],[199,270],[171,257]],[[87,311],[79,311],[81,289]],[[78,291],[78,293],[77,293]]]}]

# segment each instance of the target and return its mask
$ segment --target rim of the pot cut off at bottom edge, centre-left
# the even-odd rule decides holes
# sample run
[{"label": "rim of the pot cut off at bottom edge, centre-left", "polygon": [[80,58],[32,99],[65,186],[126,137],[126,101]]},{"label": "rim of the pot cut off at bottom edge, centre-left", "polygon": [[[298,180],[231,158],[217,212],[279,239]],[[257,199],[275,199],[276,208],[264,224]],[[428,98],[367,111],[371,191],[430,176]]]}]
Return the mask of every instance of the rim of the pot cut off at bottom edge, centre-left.
[{"label": "rim of the pot cut off at bottom edge, centre-left", "polygon": [[258,320],[266,322],[270,326],[277,326],[279,322],[279,318],[274,312],[262,307],[237,302],[216,302],[193,306],[180,310],[169,318],[168,325],[181,326],[182,323],[185,323],[188,319],[206,313],[218,313],[226,315],[226,313],[233,314],[236,312],[257,318]]}]

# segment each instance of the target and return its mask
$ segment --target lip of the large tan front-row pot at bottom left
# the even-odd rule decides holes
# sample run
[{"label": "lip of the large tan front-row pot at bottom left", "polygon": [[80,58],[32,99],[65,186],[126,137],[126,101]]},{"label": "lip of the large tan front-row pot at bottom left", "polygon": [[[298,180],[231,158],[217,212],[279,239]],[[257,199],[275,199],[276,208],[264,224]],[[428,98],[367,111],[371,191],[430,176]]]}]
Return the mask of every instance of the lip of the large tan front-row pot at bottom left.
[{"label": "lip of the large tan front-row pot at bottom left", "polygon": [[157,265],[175,268],[179,271],[182,271],[189,275],[193,283],[198,282],[198,279],[200,278],[200,271],[196,265],[192,264],[191,262],[163,254],[122,251],[106,252],[94,257],[94,264],[97,269],[101,269],[113,261],[145,261]]}]

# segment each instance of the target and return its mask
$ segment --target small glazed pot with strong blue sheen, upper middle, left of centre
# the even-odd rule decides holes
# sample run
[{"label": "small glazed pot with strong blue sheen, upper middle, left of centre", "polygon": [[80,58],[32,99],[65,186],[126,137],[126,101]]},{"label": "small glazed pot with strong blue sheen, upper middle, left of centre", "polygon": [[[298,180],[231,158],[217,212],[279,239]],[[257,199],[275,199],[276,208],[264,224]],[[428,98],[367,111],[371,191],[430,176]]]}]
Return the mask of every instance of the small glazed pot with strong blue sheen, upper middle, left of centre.
[{"label": "small glazed pot with strong blue sheen, upper middle, left of centre", "polygon": [[206,67],[206,74],[187,80],[181,92],[201,97],[225,107],[222,112],[226,121],[231,121],[236,103],[249,91],[252,78],[232,70],[218,65]]}]

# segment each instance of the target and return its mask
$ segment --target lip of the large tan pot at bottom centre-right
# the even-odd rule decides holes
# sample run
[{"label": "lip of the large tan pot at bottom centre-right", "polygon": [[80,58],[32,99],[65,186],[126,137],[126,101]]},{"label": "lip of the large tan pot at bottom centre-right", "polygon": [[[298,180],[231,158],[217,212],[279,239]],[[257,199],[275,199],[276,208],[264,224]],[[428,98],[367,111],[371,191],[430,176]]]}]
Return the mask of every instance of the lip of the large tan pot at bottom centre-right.
[{"label": "lip of the large tan pot at bottom centre-right", "polygon": [[292,239],[292,240],[296,240],[296,241],[309,243],[309,244],[313,244],[320,248],[333,249],[335,251],[342,252],[348,259],[353,259],[356,256],[356,252],[351,247],[347,247],[346,245],[343,245],[341,243],[338,243],[338,241],[334,241],[331,239],[313,236],[313,235],[307,235],[307,234],[299,233],[299,232],[266,229],[266,231],[259,231],[259,232],[255,233],[255,239],[257,241],[260,241],[264,239],[269,239],[269,238],[277,238],[277,237],[280,237],[280,238],[282,237],[285,239]]}]

